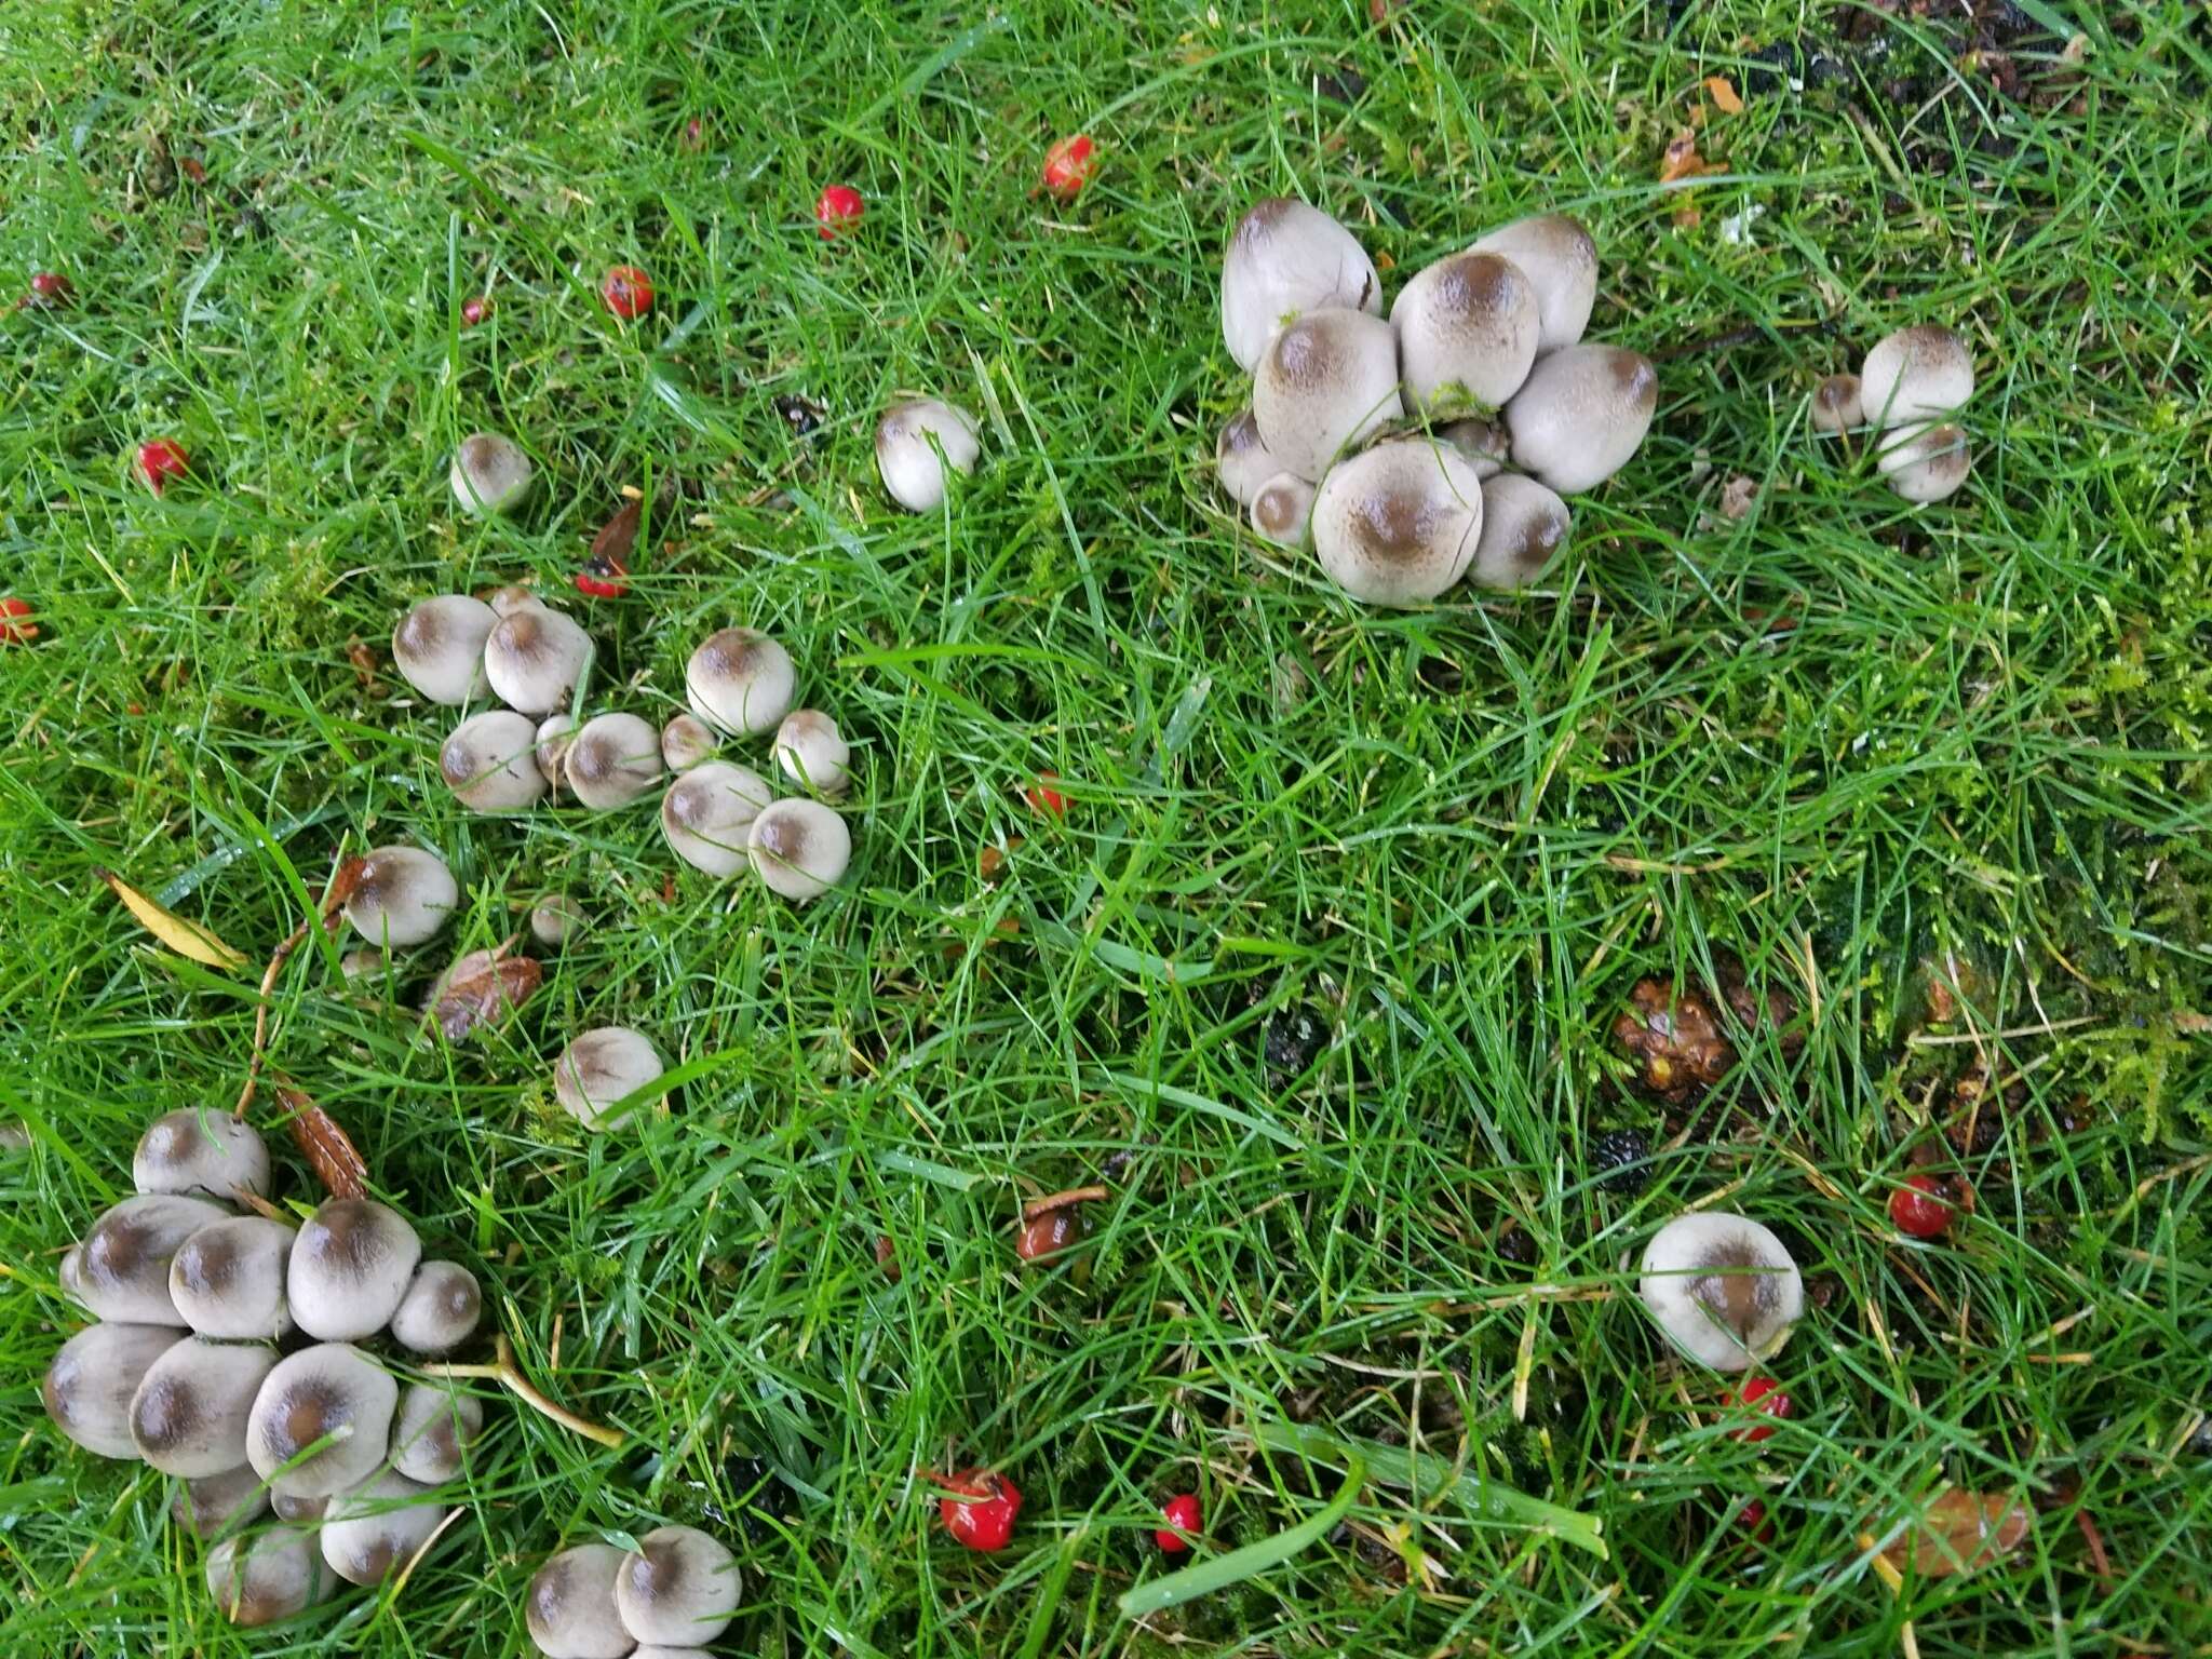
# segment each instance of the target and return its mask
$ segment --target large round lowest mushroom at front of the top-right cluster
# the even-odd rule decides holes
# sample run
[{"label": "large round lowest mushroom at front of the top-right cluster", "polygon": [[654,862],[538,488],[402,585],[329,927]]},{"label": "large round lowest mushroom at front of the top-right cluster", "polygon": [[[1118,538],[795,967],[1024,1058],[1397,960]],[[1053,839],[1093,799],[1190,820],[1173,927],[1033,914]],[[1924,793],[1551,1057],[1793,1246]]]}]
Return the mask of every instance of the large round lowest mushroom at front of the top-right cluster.
[{"label": "large round lowest mushroom at front of the top-right cluster", "polygon": [[1321,480],[1314,551],[1354,599],[1411,606],[1467,573],[1482,533],[1482,480],[1451,445],[1398,438]]}]

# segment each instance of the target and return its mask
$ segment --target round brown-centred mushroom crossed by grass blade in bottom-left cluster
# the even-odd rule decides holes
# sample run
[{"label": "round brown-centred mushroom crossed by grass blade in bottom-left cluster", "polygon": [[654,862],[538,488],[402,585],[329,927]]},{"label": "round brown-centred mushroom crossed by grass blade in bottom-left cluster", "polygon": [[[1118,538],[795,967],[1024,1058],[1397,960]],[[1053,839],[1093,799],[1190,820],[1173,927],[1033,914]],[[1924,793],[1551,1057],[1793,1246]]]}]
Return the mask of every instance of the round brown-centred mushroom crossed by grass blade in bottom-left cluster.
[{"label": "round brown-centred mushroom crossed by grass blade in bottom-left cluster", "polygon": [[398,1398],[398,1383],[352,1343],[303,1347],[276,1360],[254,1396],[246,1460],[279,1498],[358,1486],[392,1449]]}]

